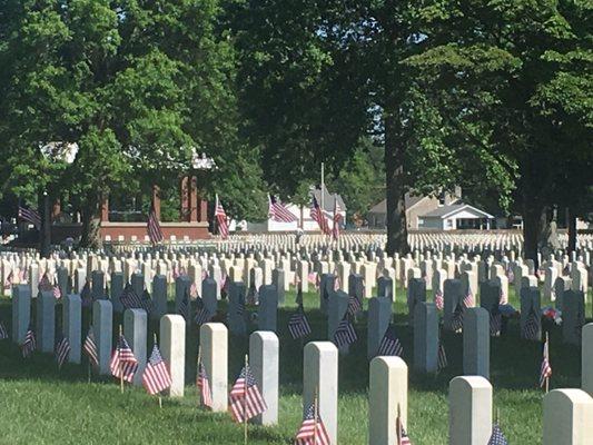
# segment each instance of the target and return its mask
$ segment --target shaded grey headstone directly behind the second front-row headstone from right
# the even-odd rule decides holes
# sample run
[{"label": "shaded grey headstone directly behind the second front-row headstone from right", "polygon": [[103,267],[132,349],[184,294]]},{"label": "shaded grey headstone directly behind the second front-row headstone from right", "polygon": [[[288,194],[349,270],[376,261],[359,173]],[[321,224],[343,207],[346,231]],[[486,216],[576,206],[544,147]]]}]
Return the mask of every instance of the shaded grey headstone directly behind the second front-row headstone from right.
[{"label": "shaded grey headstone directly behind the second front-row headstone from right", "polygon": [[490,316],[483,307],[472,307],[465,312],[463,373],[490,378]]}]

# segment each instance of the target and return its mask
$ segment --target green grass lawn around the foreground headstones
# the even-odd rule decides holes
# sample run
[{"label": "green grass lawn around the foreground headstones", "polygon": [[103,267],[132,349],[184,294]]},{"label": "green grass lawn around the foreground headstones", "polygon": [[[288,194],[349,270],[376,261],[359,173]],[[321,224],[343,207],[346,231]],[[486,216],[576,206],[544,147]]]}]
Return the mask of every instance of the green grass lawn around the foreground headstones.
[{"label": "green grass lawn around the foreground headstones", "polygon": [[[318,298],[315,291],[305,294],[305,308],[313,328],[307,342],[327,338]],[[513,290],[510,303],[518,307]],[[220,306],[225,309],[225,303]],[[249,425],[250,444],[291,444],[302,421],[303,349],[302,343],[293,340],[286,327],[295,308],[295,293],[287,293],[286,303],[278,312],[279,425]],[[34,305],[32,310],[34,316]],[[448,367],[436,376],[422,376],[413,369],[413,338],[407,326],[403,288],[397,290],[394,310],[404,359],[409,366],[407,429],[414,444],[446,444],[448,383],[463,374],[462,335],[444,334]],[[172,301],[169,312],[172,312]],[[10,299],[1,299],[0,318],[9,332],[10,314]],[[59,327],[61,310],[57,308],[56,314]],[[591,303],[586,314],[591,314]],[[89,309],[83,309],[83,332],[89,317]],[[338,443],[344,445],[368,442],[368,360],[364,317],[366,315],[356,324],[358,342],[352,346],[348,356],[339,358]],[[116,318],[115,326],[120,320]],[[254,329],[251,324],[250,330]],[[158,323],[151,322],[149,347],[155,332],[158,333]],[[165,397],[162,409],[141,387],[127,386],[121,395],[113,379],[96,375],[88,384],[86,359],[82,365],[66,364],[58,370],[52,355],[36,353],[32,358],[23,359],[16,345],[0,342],[0,444],[243,444],[243,427],[234,424],[228,414],[213,414],[198,407],[194,383],[198,345],[195,324],[188,329],[187,342],[186,396],[180,399]],[[550,349],[551,388],[580,387],[581,352],[562,344],[560,327],[551,332]],[[229,383],[237,377],[247,350],[247,337],[229,335]],[[542,344],[520,339],[518,319],[510,323],[503,337],[491,338],[493,402],[495,409],[500,409],[501,424],[511,444],[541,443],[544,395],[537,387],[541,354]]]}]

